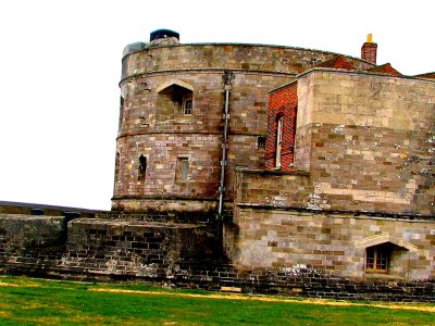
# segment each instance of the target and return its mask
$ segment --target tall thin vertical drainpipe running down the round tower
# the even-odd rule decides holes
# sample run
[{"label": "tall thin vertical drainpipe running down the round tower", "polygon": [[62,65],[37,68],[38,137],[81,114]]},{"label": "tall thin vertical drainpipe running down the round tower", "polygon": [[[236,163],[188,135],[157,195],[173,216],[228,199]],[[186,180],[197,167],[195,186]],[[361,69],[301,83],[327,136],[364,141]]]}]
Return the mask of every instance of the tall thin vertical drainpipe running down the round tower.
[{"label": "tall thin vertical drainpipe running down the round tower", "polygon": [[[232,79],[233,73],[226,71],[223,76],[224,85],[225,85],[225,109],[223,114],[224,120],[224,133],[222,139],[222,160],[221,160],[221,181],[219,185],[219,208],[217,208],[217,223],[219,223],[219,238],[222,240],[222,225],[223,225],[223,203],[224,203],[224,193],[225,193],[225,166],[226,166],[226,149],[227,149],[227,139],[228,139],[228,120],[229,120],[229,91],[232,89]],[[222,241],[221,241],[222,243]]]}]

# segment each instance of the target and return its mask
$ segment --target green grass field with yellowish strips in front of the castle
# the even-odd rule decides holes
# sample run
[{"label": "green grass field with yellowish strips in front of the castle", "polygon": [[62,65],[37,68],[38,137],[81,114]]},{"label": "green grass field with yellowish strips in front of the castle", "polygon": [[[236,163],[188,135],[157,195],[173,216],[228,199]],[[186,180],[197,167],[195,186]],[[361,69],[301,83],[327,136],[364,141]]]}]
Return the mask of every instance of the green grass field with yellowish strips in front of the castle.
[{"label": "green grass field with yellowish strips in front of the castle", "polygon": [[435,325],[435,304],[0,277],[0,325]]}]

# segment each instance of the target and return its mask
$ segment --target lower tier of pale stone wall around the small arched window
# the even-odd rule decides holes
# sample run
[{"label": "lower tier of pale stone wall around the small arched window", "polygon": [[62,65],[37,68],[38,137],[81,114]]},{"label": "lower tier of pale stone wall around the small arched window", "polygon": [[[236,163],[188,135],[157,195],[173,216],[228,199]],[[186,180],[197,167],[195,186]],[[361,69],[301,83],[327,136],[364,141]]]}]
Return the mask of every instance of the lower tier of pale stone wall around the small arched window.
[{"label": "lower tier of pale stone wall around the small arched window", "polygon": [[[238,226],[233,263],[237,268],[294,268],[310,266],[339,277],[422,280],[435,276],[435,218],[236,209]],[[387,276],[365,274],[365,249],[391,242]]]}]

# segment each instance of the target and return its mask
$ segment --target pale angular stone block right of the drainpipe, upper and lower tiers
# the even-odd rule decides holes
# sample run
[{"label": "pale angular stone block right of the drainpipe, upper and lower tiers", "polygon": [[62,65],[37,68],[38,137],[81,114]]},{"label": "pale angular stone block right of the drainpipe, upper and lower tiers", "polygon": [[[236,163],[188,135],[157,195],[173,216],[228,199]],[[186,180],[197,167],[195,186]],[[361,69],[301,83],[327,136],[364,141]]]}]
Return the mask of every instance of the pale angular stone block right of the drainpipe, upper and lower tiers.
[{"label": "pale angular stone block right of the drainpipe, upper and lower tiers", "polygon": [[[297,80],[295,172],[236,172],[235,266],[433,279],[435,84],[324,68]],[[386,276],[365,274],[373,246],[394,248]]]}]

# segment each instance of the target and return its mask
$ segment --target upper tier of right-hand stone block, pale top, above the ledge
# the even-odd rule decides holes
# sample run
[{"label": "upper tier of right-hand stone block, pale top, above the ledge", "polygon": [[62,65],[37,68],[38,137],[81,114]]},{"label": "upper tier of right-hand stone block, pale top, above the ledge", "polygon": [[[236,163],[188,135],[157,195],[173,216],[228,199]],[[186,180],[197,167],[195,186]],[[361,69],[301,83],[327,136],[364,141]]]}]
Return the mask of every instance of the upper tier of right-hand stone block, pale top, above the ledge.
[{"label": "upper tier of right-hand stone block, pale top, above the ledge", "polygon": [[434,83],[313,71],[298,97],[295,166],[318,209],[434,214]]}]

